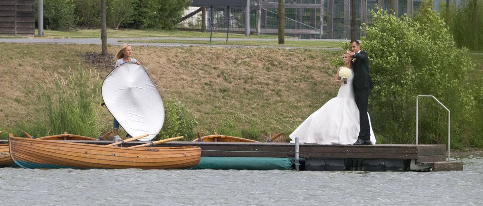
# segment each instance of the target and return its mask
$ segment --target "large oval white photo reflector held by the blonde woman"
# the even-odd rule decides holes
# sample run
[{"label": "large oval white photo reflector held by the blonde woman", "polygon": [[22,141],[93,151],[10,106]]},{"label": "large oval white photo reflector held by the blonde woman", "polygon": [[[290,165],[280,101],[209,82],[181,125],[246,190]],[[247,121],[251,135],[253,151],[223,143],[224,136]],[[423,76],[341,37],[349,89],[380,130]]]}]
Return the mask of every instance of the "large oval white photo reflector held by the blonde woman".
[{"label": "large oval white photo reflector held by the blonde woman", "polygon": [[164,122],[164,105],[143,66],[128,62],[113,69],[102,83],[102,99],[122,128],[132,137],[153,139]]}]

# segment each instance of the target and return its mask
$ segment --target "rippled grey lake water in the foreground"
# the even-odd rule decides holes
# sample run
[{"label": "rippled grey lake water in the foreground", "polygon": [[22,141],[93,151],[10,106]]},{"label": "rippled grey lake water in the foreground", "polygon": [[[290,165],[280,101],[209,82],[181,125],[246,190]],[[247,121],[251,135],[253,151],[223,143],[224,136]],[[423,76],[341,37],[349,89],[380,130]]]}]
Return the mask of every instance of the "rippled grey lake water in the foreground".
[{"label": "rippled grey lake water in the foreground", "polygon": [[454,172],[0,169],[1,205],[483,205],[483,157]]}]

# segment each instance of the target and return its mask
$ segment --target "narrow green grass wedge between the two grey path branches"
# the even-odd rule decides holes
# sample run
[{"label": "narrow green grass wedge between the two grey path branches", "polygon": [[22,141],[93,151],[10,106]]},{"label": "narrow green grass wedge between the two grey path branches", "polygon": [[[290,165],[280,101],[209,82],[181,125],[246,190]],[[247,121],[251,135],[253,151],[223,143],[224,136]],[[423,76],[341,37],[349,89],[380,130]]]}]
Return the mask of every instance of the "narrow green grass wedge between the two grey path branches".
[{"label": "narrow green grass wedge between the two grey path branches", "polygon": [[[122,41],[122,40],[120,40]],[[129,42],[146,42],[146,43],[182,43],[182,44],[207,44],[207,45],[232,45],[232,46],[275,46],[275,47],[304,47],[304,48],[340,48],[340,41],[300,41],[285,40],[285,44],[279,44],[278,40],[263,41],[232,41],[228,38],[225,40],[172,40],[172,39],[156,39],[156,40],[134,40]]]}]

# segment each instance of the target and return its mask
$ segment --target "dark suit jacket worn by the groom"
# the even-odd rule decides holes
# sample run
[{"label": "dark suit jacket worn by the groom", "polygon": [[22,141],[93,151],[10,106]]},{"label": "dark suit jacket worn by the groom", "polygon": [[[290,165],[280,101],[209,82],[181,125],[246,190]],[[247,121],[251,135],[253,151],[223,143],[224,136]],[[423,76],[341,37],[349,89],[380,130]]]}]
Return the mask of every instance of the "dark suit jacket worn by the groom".
[{"label": "dark suit jacket worn by the groom", "polygon": [[352,62],[352,68],[354,70],[354,91],[358,91],[364,88],[372,88],[372,80],[369,76],[369,58],[364,51],[356,53],[355,60]]}]

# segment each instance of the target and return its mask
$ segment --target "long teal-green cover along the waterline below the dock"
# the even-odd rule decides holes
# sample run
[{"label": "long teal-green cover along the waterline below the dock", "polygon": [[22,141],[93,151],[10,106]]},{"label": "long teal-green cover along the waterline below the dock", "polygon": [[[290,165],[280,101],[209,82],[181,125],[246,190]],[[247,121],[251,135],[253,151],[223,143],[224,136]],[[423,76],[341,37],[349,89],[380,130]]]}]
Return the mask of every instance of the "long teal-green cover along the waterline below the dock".
[{"label": "long teal-green cover along the waterline below the dock", "polygon": [[292,170],[293,158],[276,157],[201,157],[192,168],[212,170]]}]

